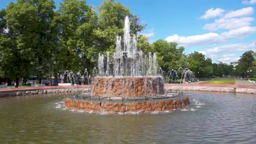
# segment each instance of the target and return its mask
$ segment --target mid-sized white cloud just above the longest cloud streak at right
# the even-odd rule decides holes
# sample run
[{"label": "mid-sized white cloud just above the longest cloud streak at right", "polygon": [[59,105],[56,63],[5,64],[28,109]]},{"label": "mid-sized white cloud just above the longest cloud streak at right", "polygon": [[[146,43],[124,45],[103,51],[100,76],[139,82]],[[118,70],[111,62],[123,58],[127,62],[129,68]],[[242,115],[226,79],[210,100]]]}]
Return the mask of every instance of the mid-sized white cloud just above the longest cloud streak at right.
[{"label": "mid-sized white cloud just above the longest cloud streak at right", "polygon": [[203,29],[216,31],[218,29],[237,29],[239,27],[250,26],[254,21],[252,17],[232,18],[232,19],[216,19],[212,24],[205,24]]}]

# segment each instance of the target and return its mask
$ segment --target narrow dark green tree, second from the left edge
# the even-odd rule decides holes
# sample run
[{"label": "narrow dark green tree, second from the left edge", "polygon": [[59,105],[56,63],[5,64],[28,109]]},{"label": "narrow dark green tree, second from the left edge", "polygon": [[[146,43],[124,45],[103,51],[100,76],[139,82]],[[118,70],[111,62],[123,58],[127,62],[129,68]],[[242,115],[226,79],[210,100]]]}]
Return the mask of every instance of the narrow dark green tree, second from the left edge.
[{"label": "narrow dark green tree, second from the left edge", "polygon": [[48,75],[53,61],[55,61],[54,53],[57,45],[57,25],[53,24],[56,8],[53,0],[26,0],[26,3],[34,5],[37,9],[38,19],[34,23],[37,23],[38,27],[35,27],[34,31],[40,35],[38,43],[32,49],[34,50],[34,57],[32,60],[32,67],[29,70],[29,74],[37,76],[39,83],[41,83],[41,77]]}]

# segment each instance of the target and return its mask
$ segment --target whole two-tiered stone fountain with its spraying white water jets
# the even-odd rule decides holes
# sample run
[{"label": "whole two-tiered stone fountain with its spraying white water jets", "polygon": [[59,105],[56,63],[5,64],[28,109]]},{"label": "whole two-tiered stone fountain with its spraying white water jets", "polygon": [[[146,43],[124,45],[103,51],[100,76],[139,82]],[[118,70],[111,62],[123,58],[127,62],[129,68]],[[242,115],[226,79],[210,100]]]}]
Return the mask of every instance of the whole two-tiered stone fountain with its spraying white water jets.
[{"label": "whole two-tiered stone fountain with its spraying white water jets", "polygon": [[[137,50],[137,39],[137,35],[130,35],[130,22],[126,16],[123,43],[122,37],[117,36],[112,58],[109,52],[107,57],[99,53],[98,69],[93,69],[95,77],[91,93],[69,97],[65,99],[65,106],[86,112],[110,113],[170,111],[186,107],[188,97],[182,99],[179,97],[181,93],[165,92],[164,82],[167,80],[164,80],[165,72],[161,68],[158,70],[157,55],[153,53],[152,56],[149,52],[143,57],[142,51]],[[182,70],[181,79],[188,73],[187,69]],[[169,73],[169,77],[173,75]],[[79,83],[77,77],[82,77],[68,71],[65,74],[72,84]]]}]

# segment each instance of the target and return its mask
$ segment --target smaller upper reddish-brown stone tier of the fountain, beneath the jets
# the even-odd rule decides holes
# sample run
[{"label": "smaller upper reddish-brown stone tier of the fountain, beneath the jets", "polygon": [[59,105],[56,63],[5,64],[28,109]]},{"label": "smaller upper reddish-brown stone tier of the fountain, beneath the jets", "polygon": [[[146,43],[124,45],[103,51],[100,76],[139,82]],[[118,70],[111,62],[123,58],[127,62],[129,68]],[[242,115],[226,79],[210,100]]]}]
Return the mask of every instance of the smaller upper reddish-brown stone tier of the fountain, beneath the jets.
[{"label": "smaller upper reddish-brown stone tier of the fountain, beneath the jets", "polygon": [[[158,87],[158,88],[157,88]],[[143,97],[164,94],[161,77],[95,77],[92,96]]]}]

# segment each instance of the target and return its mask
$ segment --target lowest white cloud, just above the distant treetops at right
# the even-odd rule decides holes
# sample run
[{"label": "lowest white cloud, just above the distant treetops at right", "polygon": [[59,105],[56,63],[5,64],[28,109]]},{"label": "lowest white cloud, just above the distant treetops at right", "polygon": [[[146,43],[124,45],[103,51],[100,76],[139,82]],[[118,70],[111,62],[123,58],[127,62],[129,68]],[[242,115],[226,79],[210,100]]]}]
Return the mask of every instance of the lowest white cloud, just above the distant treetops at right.
[{"label": "lowest white cloud, just above the distant treetops at right", "polygon": [[244,52],[256,48],[254,43],[244,44],[236,43],[230,45],[221,45],[219,47],[210,48],[205,51],[199,51],[203,53],[205,57],[229,63],[232,61],[238,61],[240,57],[236,57],[238,52]]}]

